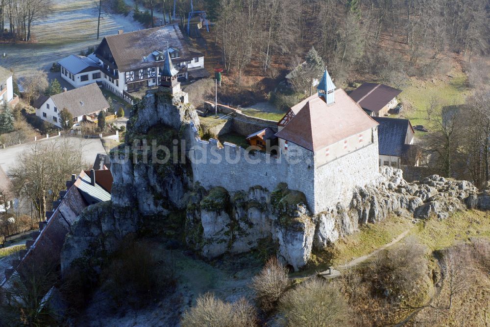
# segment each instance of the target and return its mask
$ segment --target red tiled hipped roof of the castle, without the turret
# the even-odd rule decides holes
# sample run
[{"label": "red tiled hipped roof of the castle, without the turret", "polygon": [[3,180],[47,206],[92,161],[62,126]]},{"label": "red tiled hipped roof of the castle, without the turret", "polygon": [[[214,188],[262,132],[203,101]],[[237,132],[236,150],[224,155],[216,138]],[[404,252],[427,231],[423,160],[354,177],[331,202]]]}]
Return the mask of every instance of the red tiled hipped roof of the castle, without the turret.
[{"label": "red tiled hipped roof of the castle, without the turret", "polygon": [[[299,104],[303,104],[303,107],[297,110]],[[335,90],[333,104],[327,105],[318,94],[299,104],[293,107],[297,114],[276,136],[310,151],[317,151],[378,125],[342,89]]]}]

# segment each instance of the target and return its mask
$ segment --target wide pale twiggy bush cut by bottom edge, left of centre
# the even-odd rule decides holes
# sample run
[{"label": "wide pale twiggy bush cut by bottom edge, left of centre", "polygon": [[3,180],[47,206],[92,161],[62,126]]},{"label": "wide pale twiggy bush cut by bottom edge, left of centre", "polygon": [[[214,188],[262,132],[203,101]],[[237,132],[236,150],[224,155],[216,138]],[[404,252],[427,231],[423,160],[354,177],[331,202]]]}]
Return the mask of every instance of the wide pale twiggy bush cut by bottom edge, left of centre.
[{"label": "wide pale twiggy bush cut by bottom edge, left of centre", "polygon": [[196,306],[184,313],[181,326],[253,327],[257,326],[257,315],[244,298],[229,304],[206,293],[197,299]]}]

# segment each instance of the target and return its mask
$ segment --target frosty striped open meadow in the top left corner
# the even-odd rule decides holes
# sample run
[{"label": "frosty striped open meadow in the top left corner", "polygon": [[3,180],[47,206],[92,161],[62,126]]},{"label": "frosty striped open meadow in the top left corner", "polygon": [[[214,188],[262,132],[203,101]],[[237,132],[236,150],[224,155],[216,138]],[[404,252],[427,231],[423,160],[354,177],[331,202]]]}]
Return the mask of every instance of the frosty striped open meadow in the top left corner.
[{"label": "frosty striped open meadow in the top left corner", "polygon": [[97,40],[97,10],[92,0],[53,0],[51,14],[33,26],[32,43],[0,44],[0,66],[13,69],[17,77],[31,70],[49,70],[52,63],[96,46],[104,36],[118,30],[131,32],[142,29],[132,13],[110,14],[100,20],[100,39]]}]

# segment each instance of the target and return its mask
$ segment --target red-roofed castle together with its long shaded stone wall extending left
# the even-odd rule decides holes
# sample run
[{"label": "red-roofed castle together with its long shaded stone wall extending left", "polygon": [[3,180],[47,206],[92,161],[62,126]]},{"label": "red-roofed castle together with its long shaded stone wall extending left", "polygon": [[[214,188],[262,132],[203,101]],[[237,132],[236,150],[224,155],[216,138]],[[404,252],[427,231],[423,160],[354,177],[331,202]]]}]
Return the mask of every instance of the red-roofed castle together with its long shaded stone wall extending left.
[{"label": "red-roofed castle together with its long shaded stone wall extending left", "polygon": [[[336,89],[325,70],[318,93],[293,106],[277,123],[274,154],[255,151],[250,156],[227,142],[221,147],[218,140],[201,140],[195,128],[192,155],[201,160],[192,165],[194,181],[230,192],[257,185],[273,190],[286,183],[304,193],[315,214],[339,202],[348,206],[354,187],[379,177],[377,128],[354,100]],[[228,160],[213,163],[226,156]]]}]

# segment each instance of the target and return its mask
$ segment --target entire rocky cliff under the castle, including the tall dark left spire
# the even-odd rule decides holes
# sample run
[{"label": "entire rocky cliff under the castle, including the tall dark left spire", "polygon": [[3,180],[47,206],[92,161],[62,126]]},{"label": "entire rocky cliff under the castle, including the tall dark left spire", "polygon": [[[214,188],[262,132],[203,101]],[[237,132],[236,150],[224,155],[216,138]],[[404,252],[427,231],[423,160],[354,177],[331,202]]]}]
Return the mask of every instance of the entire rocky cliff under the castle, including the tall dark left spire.
[{"label": "entire rocky cliff under the castle, including the tall dark left spire", "polygon": [[[184,96],[149,93],[134,107],[125,143],[111,153],[112,203],[95,206],[79,217],[62,253],[64,270],[73,262],[90,261],[97,271],[97,258],[115,250],[125,235],[184,211],[187,245],[202,256],[243,253],[266,244],[298,269],[313,247],[322,249],[392,213],[444,219],[466,207],[490,208],[490,193],[478,194],[468,182],[433,175],[408,183],[401,170],[391,167],[381,167],[380,179],[371,185],[354,188],[349,206],[339,203],[318,215],[308,211],[304,194],[286,184],[274,190],[258,185],[236,192],[193,185],[185,155],[184,160],[174,161],[182,149],[173,140],[192,144],[190,123],[199,124],[196,111],[182,102]],[[175,151],[165,154],[153,145],[175,146]],[[145,146],[150,146],[147,155]],[[170,160],[159,163],[165,156]]]}]

